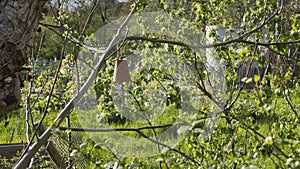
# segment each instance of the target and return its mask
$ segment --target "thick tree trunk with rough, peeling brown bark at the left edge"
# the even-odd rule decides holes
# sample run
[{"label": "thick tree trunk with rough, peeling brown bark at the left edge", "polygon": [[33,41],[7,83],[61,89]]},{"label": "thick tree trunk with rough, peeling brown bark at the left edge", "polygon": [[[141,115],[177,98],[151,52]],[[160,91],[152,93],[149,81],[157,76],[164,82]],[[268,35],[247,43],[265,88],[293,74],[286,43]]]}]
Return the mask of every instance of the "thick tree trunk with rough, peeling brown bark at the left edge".
[{"label": "thick tree trunk with rough, peeling brown bark at the left edge", "polygon": [[0,118],[21,101],[20,77],[47,0],[0,1]]}]

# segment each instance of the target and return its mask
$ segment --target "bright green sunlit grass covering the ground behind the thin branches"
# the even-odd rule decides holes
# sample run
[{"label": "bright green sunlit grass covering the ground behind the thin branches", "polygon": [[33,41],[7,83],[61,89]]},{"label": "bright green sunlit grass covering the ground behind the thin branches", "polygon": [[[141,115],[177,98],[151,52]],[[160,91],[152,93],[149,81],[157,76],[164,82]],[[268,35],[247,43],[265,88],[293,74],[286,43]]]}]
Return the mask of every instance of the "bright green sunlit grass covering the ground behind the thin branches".
[{"label": "bright green sunlit grass covering the ground behind the thin branches", "polygon": [[[291,91],[291,100],[293,102],[294,109],[297,113],[299,113],[300,93],[296,89]],[[263,91],[261,91],[261,94],[264,95]],[[292,167],[294,164],[293,162],[299,161],[299,121],[282,95],[271,94],[264,97],[268,98],[268,100],[265,99],[264,101],[270,106],[265,110],[267,111],[267,116],[261,108],[255,93],[253,91],[249,92],[245,90],[230,111],[231,116],[237,117],[236,120],[232,120],[231,123],[228,123],[225,118],[221,118],[221,120],[217,123],[216,129],[209,137],[201,136],[201,130],[205,124],[201,123],[201,125],[195,126],[194,130],[189,131],[176,148],[180,149],[195,160],[202,161],[202,165],[204,167],[215,165],[232,168],[234,165],[237,165],[238,168],[247,168],[251,165],[255,165],[259,168],[277,168],[282,166],[288,168],[286,165],[287,163],[289,163],[290,167]],[[189,117],[189,120],[195,120],[202,117],[204,114],[201,114],[201,112],[209,114],[211,111],[211,109],[209,109],[209,104],[205,105],[206,107],[201,107],[201,104],[199,104],[198,108],[201,111],[198,112],[198,114],[196,113],[197,117]],[[173,123],[182,113],[180,110],[176,109],[176,106],[174,105],[161,108],[161,111],[161,113],[158,113],[157,115],[154,114],[150,117],[152,125]],[[97,113],[99,113],[97,109],[89,112],[77,111],[75,113],[73,112],[71,119],[75,122],[74,124],[76,127],[79,127],[80,124],[98,124],[85,126],[97,128],[137,128],[148,125],[147,121],[127,121],[125,124],[113,123],[109,126],[105,126],[97,122],[97,119],[95,118]],[[47,125],[52,124],[53,119],[57,114],[58,112],[49,114],[45,119],[45,123]],[[34,117],[35,121],[38,121],[41,114],[34,114]],[[181,117],[183,117],[183,120],[185,120],[184,118],[188,119],[188,116]],[[9,114],[6,119],[1,121],[0,143],[26,142],[26,124],[24,119],[25,112],[20,109]],[[267,139],[261,138],[254,131],[243,127],[244,124],[253,128],[254,131],[260,133],[264,137],[272,136],[272,142],[268,142]],[[66,126],[66,123],[64,122],[63,125]],[[269,126],[271,126],[271,132]],[[163,133],[164,131],[165,129],[156,130],[157,134]],[[143,130],[143,132],[154,138],[152,130]],[[77,154],[78,157],[88,159],[87,161],[89,162],[87,162],[87,165],[89,168],[104,168],[109,165],[109,163],[114,163],[115,161],[118,161],[119,164],[125,168],[129,168],[130,166],[132,168],[158,168],[158,161],[161,161],[162,157],[164,157],[164,160],[167,161],[171,168],[186,168],[188,166],[194,168],[195,166],[191,163],[191,161],[172,151],[165,152],[163,156],[155,155],[147,158],[123,158],[120,154],[115,154],[116,151],[112,151],[111,147],[106,146],[108,139],[113,139],[112,141],[116,143],[115,148],[121,148],[124,146],[122,142],[118,143],[118,136],[114,134],[102,133],[78,135],[74,133],[73,137],[77,137],[77,142],[74,142],[72,148],[80,150]],[[141,138],[138,133],[131,131],[119,132],[118,134],[131,138]],[[56,134],[55,137],[59,137],[66,141],[67,132],[62,132],[61,135]],[[147,140],[144,141],[145,143],[143,144],[148,144]],[[82,143],[87,143],[87,146],[80,148]],[[132,146],[134,146],[134,144]],[[275,146],[280,148],[281,151],[287,154],[289,158],[292,158],[292,160],[287,161],[287,158],[281,155]],[[136,152],[128,151],[126,153],[135,155]],[[282,161],[276,156],[278,156]],[[165,164],[163,164],[163,166],[164,165]]]}]

